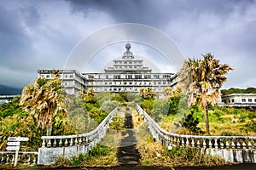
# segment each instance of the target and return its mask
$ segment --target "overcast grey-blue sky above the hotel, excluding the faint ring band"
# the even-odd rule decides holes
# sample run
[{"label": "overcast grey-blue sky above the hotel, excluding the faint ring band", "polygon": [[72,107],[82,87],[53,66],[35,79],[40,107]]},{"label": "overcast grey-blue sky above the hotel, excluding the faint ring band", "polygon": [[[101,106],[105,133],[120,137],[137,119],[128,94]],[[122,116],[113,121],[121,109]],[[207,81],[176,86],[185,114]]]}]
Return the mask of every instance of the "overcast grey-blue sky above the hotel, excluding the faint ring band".
[{"label": "overcast grey-blue sky above the hotel, excluding the faint ring band", "polygon": [[[138,23],[163,31],[185,58],[212,53],[230,71],[224,88],[256,87],[256,2],[253,0],[86,0],[0,3],[0,84],[22,88],[38,69],[62,69],[85,37],[102,28]],[[131,42],[133,54],[158,60],[142,44]],[[121,55],[125,43],[112,44],[92,58],[87,70]],[[104,53],[103,53],[104,52]],[[155,55],[154,55],[155,54]],[[153,61],[154,62],[154,61]],[[167,68],[166,62],[156,63]],[[86,69],[85,69],[86,71]],[[165,71],[165,70],[164,70]],[[168,71],[168,69],[166,69]]]}]

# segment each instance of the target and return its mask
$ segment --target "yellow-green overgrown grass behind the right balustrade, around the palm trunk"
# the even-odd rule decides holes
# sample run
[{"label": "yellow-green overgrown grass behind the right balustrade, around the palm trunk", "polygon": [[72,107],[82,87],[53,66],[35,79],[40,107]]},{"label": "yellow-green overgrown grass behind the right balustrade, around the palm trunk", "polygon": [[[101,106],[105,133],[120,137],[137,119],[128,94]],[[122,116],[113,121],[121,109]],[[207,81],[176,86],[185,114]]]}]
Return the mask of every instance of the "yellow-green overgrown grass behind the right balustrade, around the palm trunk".
[{"label": "yellow-green overgrown grass behind the right balustrade, around the palm trunk", "polygon": [[[205,113],[202,109],[196,108],[194,116],[198,118],[198,127],[205,129]],[[180,115],[165,116],[160,127],[173,133],[196,134],[183,128],[173,128]],[[256,112],[245,109],[214,106],[209,110],[210,133],[213,136],[255,136],[256,135]],[[227,128],[229,127],[229,128]]]}]

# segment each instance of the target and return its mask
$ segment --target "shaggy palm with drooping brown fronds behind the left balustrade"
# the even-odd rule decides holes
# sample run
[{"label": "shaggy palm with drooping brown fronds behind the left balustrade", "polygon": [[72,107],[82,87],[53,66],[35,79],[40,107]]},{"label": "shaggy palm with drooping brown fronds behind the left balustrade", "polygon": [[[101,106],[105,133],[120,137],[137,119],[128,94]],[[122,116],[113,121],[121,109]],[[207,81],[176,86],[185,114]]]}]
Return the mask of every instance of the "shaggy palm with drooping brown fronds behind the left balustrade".
[{"label": "shaggy palm with drooping brown fronds behind the left balustrade", "polygon": [[55,77],[45,79],[38,77],[34,84],[28,84],[22,90],[20,105],[25,111],[37,114],[38,126],[46,127],[46,135],[51,135],[53,117],[58,111],[66,114],[63,107],[60,72],[53,70]]}]

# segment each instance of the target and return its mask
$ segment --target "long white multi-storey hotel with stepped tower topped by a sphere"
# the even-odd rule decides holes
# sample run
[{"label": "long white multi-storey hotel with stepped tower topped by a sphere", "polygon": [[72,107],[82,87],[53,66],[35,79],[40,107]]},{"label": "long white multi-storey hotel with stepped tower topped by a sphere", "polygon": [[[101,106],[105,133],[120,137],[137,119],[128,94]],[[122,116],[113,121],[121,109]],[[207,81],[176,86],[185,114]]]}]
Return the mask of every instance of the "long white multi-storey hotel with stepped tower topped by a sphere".
[{"label": "long white multi-storey hotel with stepped tower topped by a sphere", "polygon": [[[103,73],[79,73],[75,70],[62,70],[61,79],[68,94],[77,94],[93,88],[98,92],[131,92],[137,93],[140,88],[151,87],[161,94],[168,86],[173,86],[173,73],[154,72],[144,65],[143,59],[138,59],[130,51],[131,44],[125,45],[125,53],[113,59],[113,65],[104,69]],[[38,70],[38,77],[52,78],[51,70]]]}]

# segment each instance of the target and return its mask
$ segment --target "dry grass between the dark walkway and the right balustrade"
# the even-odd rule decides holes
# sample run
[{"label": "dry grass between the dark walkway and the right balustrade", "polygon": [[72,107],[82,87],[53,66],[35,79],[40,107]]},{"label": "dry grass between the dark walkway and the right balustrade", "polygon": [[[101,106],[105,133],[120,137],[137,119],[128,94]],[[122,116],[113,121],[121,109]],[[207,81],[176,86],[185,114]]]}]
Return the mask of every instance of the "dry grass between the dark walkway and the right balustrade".
[{"label": "dry grass between the dark walkway and the right balustrade", "polygon": [[141,116],[134,112],[134,125],[137,137],[137,148],[141,154],[141,165],[143,166],[165,166],[165,167],[185,167],[185,166],[215,166],[228,164],[223,159],[207,156],[201,149],[192,147],[175,146],[172,150],[167,150],[155,142],[150,133],[148,125],[143,122]]}]

